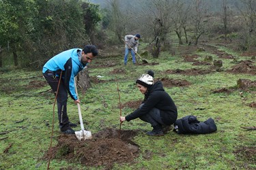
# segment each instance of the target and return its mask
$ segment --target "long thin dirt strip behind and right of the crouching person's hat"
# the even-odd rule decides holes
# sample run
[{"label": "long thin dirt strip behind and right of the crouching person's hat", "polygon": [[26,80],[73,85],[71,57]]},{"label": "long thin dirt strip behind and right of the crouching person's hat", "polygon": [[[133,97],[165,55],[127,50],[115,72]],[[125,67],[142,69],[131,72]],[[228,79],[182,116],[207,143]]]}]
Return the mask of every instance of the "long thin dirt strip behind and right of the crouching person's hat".
[{"label": "long thin dirt strip behind and right of the crouching person's hat", "polygon": [[211,73],[211,72],[212,72],[211,70],[203,70],[203,69],[186,69],[186,70],[167,69],[167,71],[165,71],[165,73],[182,74],[182,75],[203,75],[203,74],[208,74],[208,73]]}]

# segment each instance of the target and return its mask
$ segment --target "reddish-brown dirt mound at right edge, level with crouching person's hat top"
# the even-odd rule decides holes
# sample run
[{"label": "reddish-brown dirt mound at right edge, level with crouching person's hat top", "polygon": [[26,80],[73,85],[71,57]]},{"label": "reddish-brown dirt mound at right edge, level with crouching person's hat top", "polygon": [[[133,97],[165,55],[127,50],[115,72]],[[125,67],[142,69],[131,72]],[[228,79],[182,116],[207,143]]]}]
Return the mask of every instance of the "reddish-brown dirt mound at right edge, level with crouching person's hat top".
[{"label": "reddish-brown dirt mound at right edge, level with crouching person's hat top", "polygon": [[229,73],[248,73],[255,75],[256,67],[253,65],[252,61],[240,61],[238,65],[234,65]]}]

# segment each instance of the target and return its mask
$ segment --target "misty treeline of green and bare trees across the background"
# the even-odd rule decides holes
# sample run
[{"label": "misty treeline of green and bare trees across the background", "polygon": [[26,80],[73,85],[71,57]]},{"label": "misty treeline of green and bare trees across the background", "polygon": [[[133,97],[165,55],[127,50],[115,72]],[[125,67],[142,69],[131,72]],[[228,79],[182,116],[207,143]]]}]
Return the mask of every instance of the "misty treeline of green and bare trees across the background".
[{"label": "misty treeline of green and bare trees across the background", "polygon": [[0,67],[40,68],[68,48],[104,50],[141,34],[158,57],[174,43],[256,45],[256,0],[0,0]]}]

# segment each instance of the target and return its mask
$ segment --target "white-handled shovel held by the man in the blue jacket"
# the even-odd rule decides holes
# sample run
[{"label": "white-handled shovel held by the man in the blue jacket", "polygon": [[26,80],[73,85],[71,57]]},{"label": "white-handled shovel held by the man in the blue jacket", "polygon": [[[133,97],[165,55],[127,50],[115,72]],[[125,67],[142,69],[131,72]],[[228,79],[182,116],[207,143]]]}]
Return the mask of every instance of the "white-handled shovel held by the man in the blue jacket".
[{"label": "white-handled shovel held by the man in the blue jacket", "polygon": [[[79,98],[79,94],[77,92],[77,88],[76,88],[76,79],[74,78],[74,86],[76,89],[76,96],[77,98]],[[85,127],[83,126],[83,118],[82,118],[82,114],[81,114],[81,107],[80,107],[80,103],[76,104],[78,109],[79,109],[79,120],[80,120],[80,125],[81,125],[81,131],[75,131],[74,133],[76,134],[76,138],[79,139],[79,141],[81,141],[82,139],[91,139],[91,131],[85,131]]]}]

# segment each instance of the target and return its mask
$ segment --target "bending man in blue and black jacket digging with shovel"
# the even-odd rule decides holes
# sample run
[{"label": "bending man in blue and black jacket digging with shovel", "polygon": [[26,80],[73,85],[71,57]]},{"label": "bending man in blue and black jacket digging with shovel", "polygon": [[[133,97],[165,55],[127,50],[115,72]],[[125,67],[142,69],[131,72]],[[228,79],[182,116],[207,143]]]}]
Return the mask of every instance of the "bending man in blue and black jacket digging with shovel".
[{"label": "bending man in blue and black jacket digging with shovel", "polygon": [[74,134],[74,130],[71,127],[76,126],[76,124],[69,121],[67,114],[68,93],[75,104],[80,103],[76,96],[74,77],[79,71],[82,71],[85,66],[91,63],[97,55],[98,50],[96,46],[93,45],[87,45],[83,50],[81,48],[73,48],[53,56],[53,58],[46,62],[42,69],[44,78],[55,94],[61,75],[59,91],[57,94],[57,108],[59,128],[62,133]]}]

